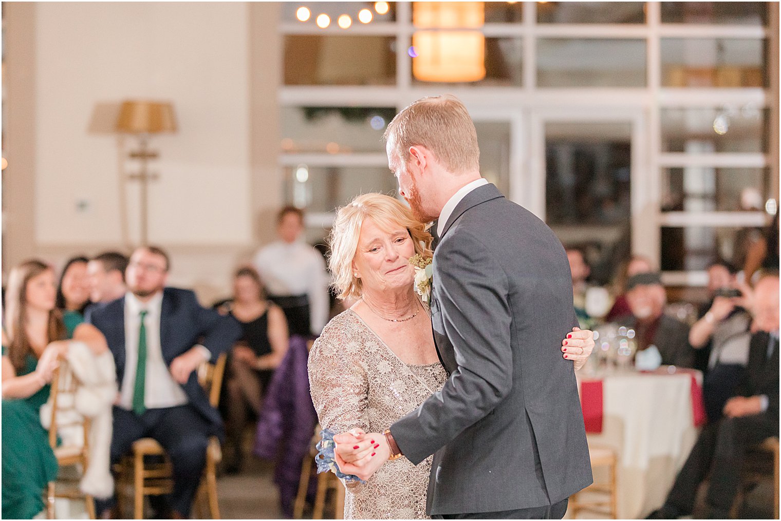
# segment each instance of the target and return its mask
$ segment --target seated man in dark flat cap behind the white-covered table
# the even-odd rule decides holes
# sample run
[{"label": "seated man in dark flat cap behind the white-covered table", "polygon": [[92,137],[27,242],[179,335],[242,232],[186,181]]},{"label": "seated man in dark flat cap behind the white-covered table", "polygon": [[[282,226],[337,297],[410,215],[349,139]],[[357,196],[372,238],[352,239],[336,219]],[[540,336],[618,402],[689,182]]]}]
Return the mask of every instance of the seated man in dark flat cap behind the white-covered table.
[{"label": "seated man in dark flat cap behind the white-covered table", "polygon": [[626,282],[626,302],[632,314],[617,323],[633,328],[637,350],[656,346],[662,364],[691,367],[694,351],[689,346],[689,326],[665,314],[667,297],[658,273],[640,273]]}]

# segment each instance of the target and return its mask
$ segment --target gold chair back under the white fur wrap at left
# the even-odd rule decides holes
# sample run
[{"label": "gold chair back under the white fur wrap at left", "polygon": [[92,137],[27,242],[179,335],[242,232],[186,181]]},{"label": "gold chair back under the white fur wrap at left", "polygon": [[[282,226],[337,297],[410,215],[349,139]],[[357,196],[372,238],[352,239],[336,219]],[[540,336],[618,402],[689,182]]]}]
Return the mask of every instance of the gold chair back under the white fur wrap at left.
[{"label": "gold chair back under the white fur wrap at left", "polygon": [[57,435],[63,428],[80,428],[84,434],[83,451],[89,449],[89,418],[76,409],[76,392],[81,381],[73,374],[66,360],[61,360],[52,376],[49,399],[52,402],[52,418],[49,424],[48,439],[52,449],[58,448]]}]

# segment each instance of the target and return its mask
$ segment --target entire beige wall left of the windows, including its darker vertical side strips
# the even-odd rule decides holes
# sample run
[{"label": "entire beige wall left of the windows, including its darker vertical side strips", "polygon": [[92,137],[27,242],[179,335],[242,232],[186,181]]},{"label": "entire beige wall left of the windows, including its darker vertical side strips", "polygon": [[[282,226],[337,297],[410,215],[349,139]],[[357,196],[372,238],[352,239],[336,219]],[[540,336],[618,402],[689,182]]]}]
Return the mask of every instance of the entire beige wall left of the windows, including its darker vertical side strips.
[{"label": "entire beige wall left of the windows, including its darker vertical side strips", "polygon": [[279,5],[6,7],[6,106],[27,105],[5,132],[3,272],[30,255],[59,267],[73,253],[137,243],[137,184],[122,183],[137,170],[124,159],[135,140],[111,126],[120,101],[149,98],[171,101],[179,126],[152,138],[149,240],[171,251],[174,284],[205,300],[226,292],[234,266],[273,236],[258,216],[280,206]]}]

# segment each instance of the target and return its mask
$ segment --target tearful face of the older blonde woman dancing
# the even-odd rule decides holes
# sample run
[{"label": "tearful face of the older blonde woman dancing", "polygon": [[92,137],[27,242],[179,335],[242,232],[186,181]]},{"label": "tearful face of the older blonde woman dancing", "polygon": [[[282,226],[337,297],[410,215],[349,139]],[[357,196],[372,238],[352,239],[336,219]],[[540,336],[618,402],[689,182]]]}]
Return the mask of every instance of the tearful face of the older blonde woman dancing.
[{"label": "tearful face of the older blonde woman dancing", "polygon": [[394,225],[390,232],[366,219],[358,237],[358,250],[352,261],[353,273],[361,278],[363,290],[382,292],[412,285],[415,270],[409,257],[415,245],[407,229]]}]

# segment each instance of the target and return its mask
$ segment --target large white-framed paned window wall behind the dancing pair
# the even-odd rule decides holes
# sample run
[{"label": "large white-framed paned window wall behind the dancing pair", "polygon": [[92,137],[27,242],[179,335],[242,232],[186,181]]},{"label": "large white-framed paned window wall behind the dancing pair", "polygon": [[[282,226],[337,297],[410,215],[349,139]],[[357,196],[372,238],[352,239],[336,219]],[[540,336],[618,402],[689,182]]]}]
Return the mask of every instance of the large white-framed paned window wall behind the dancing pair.
[{"label": "large white-framed paned window wall behind the dancing pair", "polygon": [[280,171],[312,233],[358,193],[396,194],[388,122],[448,92],[502,193],[564,243],[651,257],[669,285],[703,284],[716,258],[740,264],[778,207],[772,2],[281,9]]}]

